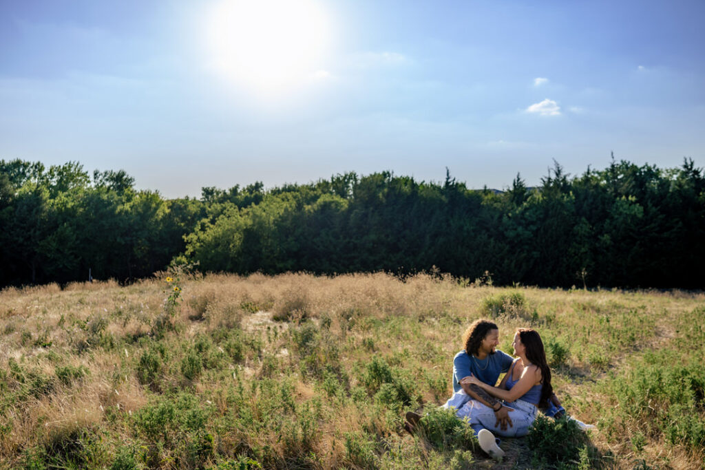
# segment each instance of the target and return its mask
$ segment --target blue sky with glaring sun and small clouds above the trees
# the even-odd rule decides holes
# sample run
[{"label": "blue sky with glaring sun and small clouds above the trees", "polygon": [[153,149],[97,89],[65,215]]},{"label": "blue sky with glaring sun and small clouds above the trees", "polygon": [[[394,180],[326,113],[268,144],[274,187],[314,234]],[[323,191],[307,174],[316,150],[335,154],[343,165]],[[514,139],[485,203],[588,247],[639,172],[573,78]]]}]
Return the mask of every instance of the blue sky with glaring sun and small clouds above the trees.
[{"label": "blue sky with glaring sun and small clouds above the trees", "polygon": [[611,151],[704,166],[704,18],[701,0],[0,0],[0,159],[124,169],[166,197],[446,167],[501,189]]}]

